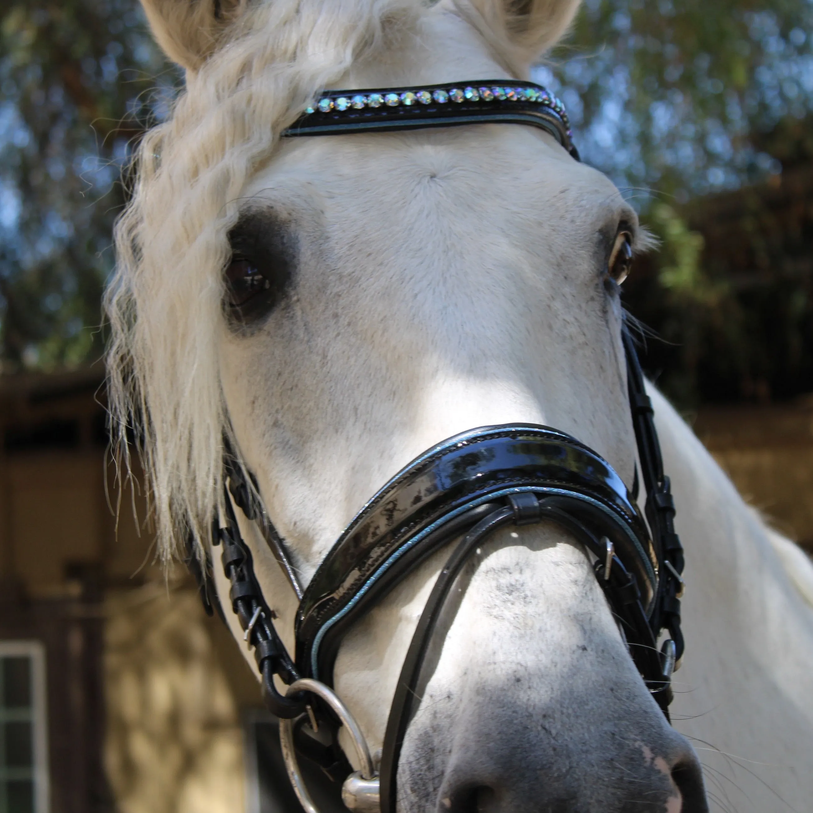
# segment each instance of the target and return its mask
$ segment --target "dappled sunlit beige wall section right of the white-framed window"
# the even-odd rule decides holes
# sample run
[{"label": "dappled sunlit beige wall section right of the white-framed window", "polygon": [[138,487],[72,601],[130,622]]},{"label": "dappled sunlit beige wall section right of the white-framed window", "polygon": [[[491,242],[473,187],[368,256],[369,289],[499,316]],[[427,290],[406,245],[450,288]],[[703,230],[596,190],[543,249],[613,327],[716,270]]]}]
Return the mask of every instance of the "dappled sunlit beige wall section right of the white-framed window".
[{"label": "dappled sunlit beige wall section right of the white-framed window", "polygon": [[105,611],[105,763],[120,811],[245,810],[240,712],[259,687],[220,620],[197,591],[159,584],[116,591]]}]

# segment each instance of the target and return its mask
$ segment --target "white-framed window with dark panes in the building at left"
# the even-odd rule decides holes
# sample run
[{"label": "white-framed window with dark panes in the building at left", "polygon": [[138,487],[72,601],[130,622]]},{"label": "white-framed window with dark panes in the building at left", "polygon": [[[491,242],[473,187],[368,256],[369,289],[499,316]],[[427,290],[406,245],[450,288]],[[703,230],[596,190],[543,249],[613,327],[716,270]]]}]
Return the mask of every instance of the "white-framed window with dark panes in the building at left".
[{"label": "white-framed window with dark panes in the building at left", "polygon": [[0,813],[48,813],[45,648],[0,641]]}]

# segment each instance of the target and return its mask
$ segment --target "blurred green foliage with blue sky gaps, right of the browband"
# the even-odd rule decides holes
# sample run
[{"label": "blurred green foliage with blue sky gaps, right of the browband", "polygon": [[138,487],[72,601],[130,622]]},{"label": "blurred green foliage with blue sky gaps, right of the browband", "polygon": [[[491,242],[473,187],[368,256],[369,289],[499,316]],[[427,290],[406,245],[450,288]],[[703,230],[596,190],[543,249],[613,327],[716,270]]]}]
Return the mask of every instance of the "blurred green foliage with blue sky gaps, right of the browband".
[{"label": "blurred green foliage with blue sky gaps, right of the browband", "polygon": [[650,190],[686,202],[780,170],[752,136],[810,109],[811,31],[806,0],[585,0],[541,76],[585,159],[646,209]]}]

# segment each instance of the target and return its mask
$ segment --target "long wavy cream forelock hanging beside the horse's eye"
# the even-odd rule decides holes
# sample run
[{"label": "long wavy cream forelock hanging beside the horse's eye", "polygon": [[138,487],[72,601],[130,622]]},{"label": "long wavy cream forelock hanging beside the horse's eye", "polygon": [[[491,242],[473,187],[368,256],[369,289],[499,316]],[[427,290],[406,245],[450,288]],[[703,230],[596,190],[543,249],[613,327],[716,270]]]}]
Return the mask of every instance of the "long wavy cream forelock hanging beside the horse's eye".
[{"label": "long wavy cream forelock hanging beside the horse's eye", "polygon": [[108,398],[125,467],[128,432],[141,437],[164,561],[185,534],[206,540],[222,494],[221,271],[241,189],[320,89],[424,11],[420,0],[256,4],[137,149],[105,298]]}]

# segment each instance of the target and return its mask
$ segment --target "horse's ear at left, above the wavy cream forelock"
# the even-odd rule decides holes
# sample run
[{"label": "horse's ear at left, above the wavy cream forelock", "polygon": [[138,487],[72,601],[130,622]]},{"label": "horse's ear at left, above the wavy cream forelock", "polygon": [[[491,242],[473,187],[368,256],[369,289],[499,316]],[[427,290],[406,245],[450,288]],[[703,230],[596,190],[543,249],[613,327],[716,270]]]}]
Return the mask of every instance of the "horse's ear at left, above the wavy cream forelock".
[{"label": "horse's ear at left, above the wavy cream forelock", "polygon": [[247,0],[141,0],[155,40],[173,62],[189,71],[215,51],[224,29]]}]

